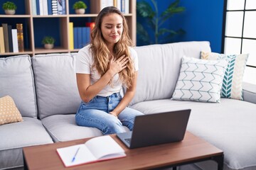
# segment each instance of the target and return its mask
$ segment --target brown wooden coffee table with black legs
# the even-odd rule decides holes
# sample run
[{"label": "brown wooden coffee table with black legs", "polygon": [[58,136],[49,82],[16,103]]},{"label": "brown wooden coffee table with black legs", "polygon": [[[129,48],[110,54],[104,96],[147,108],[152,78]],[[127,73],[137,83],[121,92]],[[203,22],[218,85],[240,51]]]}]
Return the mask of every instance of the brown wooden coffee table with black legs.
[{"label": "brown wooden coffee table with black legs", "polygon": [[[174,142],[151,147],[128,149],[116,135],[111,135],[115,141],[125,150],[127,157],[84,164],[65,168],[56,149],[78,145],[89,140],[73,140],[58,142],[48,145],[24,147],[25,169],[157,169],[160,167],[175,167],[183,164],[191,164],[205,160],[213,160],[218,163],[218,170],[223,169],[223,151],[210,145],[205,140],[186,132],[182,142]],[[107,147],[107,146],[106,146]]]}]

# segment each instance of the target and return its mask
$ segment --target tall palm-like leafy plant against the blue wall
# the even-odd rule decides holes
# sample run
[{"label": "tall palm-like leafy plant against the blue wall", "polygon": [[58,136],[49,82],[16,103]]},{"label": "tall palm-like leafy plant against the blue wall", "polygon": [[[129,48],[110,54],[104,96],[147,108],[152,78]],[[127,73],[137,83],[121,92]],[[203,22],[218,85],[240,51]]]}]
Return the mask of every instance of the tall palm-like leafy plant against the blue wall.
[{"label": "tall palm-like leafy plant against the blue wall", "polygon": [[[159,13],[159,8],[157,6],[156,0],[151,0],[153,8],[148,1],[137,1],[137,18],[139,21],[143,21],[145,26],[137,21],[137,35],[138,40],[140,40],[143,45],[149,44],[161,44],[172,42],[174,35],[182,35],[185,33],[184,30],[171,30],[164,27],[164,23],[174,16],[176,13],[182,13],[185,11],[183,6],[178,6],[180,0],[175,0],[166,10],[162,13]],[[154,38],[150,38],[149,33],[154,33]]]}]

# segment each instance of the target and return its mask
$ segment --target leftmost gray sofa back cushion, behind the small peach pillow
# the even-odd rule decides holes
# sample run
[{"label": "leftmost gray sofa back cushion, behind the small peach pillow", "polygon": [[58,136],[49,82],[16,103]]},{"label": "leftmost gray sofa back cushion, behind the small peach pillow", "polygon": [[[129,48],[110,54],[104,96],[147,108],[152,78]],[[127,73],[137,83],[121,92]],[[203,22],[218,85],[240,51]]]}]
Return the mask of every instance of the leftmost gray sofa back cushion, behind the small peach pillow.
[{"label": "leftmost gray sofa back cushion, behind the small peach pillow", "polygon": [[22,116],[37,116],[34,87],[29,55],[0,58],[0,97],[11,96]]}]

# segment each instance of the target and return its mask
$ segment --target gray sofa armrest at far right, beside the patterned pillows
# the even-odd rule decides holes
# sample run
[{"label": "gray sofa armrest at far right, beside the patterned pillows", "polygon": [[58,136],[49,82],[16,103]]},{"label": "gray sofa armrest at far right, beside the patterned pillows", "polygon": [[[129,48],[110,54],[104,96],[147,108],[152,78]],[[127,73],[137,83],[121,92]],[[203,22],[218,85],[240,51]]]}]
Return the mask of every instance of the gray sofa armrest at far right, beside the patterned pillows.
[{"label": "gray sofa armrest at far right, beside the patterned pillows", "polygon": [[244,101],[256,104],[256,84],[243,83],[242,84],[242,95]]}]

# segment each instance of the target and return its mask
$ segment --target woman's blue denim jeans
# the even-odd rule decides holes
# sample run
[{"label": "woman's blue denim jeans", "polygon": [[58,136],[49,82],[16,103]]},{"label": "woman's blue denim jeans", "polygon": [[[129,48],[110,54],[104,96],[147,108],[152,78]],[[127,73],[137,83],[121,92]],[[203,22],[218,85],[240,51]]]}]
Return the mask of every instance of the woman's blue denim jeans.
[{"label": "woman's blue denim jeans", "polygon": [[132,108],[124,108],[118,117],[111,115],[110,112],[121,99],[122,96],[116,93],[107,97],[95,96],[88,103],[82,101],[75,115],[75,122],[80,126],[97,128],[103,135],[125,132],[123,125],[132,130],[135,116],[143,114]]}]

